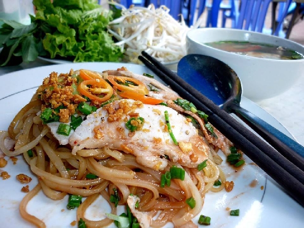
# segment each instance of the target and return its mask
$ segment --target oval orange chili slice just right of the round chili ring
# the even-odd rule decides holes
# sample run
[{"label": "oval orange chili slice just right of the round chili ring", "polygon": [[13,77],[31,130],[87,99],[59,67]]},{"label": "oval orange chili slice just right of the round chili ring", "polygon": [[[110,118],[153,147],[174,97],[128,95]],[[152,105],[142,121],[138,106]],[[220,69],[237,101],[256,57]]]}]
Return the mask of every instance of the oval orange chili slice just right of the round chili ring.
[{"label": "oval orange chili slice just right of the round chili ring", "polygon": [[109,75],[107,80],[120,91],[133,91],[142,95],[147,95],[149,93],[148,88],[137,79]]}]

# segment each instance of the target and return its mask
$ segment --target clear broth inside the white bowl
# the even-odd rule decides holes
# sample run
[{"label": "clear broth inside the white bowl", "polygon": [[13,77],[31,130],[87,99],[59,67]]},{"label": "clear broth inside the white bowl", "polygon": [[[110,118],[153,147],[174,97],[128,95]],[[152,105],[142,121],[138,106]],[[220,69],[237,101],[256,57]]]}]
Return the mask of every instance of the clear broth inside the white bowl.
[{"label": "clear broth inside the white bowl", "polygon": [[232,52],[257,58],[294,60],[302,59],[300,53],[275,45],[239,41],[220,41],[205,43],[205,45],[222,51]]}]

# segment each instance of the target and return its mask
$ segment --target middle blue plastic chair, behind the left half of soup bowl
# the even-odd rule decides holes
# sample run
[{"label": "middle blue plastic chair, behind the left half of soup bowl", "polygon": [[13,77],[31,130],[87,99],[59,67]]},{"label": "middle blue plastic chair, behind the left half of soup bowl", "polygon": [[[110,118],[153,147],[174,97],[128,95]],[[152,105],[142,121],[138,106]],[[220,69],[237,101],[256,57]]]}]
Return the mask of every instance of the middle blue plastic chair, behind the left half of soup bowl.
[{"label": "middle blue plastic chair, behind the left half of soup bowl", "polygon": [[[206,4],[208,10],[206,27],[217,27],[218,13],[222,11],[222,24],[221,27],[225,27],[226,19],[232,20],[232,27],[235,27],[237,17],[237,6],[236,0],[230,0],[229,3],[223,3],[222,0],[213,0],[212,3]],[[213,15],[213,16],[212,16]]]}]

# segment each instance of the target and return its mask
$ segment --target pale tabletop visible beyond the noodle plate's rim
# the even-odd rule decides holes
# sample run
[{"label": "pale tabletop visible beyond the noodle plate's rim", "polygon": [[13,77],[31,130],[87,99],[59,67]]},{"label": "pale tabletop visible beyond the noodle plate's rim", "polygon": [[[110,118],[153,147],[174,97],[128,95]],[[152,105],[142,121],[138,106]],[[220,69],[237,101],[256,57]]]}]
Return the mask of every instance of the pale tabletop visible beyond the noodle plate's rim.
[{"label": "pale tabletop visible beyond the noodle plate's rim", "polygon": [[[41,59],[19,66],[0,67],[0,75],[26,68],[50,65]],[[304,72],[298,82],[277,97],[256,102],[276,118],[301,144],[304,145]]]}]

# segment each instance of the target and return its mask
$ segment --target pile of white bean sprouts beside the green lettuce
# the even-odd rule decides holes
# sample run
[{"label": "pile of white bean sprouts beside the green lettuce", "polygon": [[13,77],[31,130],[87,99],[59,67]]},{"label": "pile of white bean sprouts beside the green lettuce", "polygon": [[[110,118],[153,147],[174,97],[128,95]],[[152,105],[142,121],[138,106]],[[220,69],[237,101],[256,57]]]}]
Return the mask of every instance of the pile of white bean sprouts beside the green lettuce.
[{"label": "pile of white bean sprouts beside the green lettuce", "polygon": [[166,6],[122,8],[122,16],[109,23],[108,31],[116,37],[116,45],[125,53],[125,61],[141,63],[138,56],[146,51],[162,63],[178,61],[186,55],[186,33],[189,27],[181,15],[175,20]]}]

